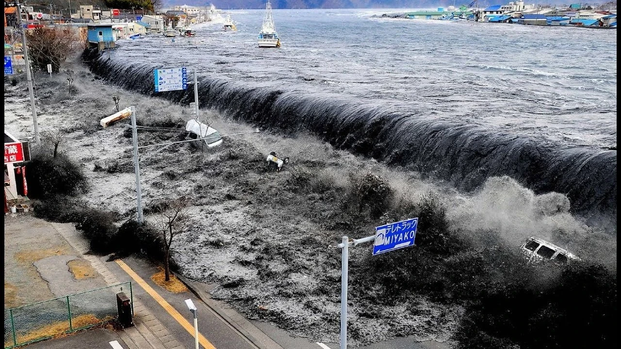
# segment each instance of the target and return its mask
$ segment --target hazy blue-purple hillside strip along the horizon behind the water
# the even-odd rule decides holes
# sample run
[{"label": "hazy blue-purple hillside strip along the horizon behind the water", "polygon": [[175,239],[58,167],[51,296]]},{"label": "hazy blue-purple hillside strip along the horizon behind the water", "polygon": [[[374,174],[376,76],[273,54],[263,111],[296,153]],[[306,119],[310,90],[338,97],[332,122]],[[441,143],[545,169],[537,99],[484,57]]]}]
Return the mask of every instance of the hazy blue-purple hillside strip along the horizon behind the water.
[{"label": "hazy blue-purple hillside strip along the horizon behind the water", "polygon": [[[205,6],[204,0],[165,0],[165,6]],[[218,9],[263,9],[266,0],[213,0]],[[274,9],[366,9],[366,8],[433,8],[437,6],[460,6],[465,1],[453,0],[271,0]]]}]

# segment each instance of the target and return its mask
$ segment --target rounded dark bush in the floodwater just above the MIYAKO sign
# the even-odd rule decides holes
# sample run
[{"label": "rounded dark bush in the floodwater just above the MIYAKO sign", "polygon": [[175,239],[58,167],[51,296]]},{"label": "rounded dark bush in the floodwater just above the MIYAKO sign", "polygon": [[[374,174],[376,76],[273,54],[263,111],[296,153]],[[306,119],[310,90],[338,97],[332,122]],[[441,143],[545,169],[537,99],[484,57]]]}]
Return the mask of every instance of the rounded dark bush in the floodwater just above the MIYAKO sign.
[{"label": "rounded dark bush in the floodwater just above the MIYAKO sign", "polygon": [[373,173],[363,176],[350,175],[350,204],[358,213],[367,213],[371,218],[379,218],[388,211],[393,191],[388,180]]}]

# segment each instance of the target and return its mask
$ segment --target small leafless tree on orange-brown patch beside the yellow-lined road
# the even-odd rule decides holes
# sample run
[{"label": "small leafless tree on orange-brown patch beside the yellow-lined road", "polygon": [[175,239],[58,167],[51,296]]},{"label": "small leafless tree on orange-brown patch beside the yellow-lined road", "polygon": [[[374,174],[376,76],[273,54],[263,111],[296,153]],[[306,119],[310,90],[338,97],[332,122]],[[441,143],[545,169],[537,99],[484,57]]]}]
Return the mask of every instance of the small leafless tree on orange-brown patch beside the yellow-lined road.
[{"label": "small leafless tree on orange-brown patch beside the yellow-lined road", "polygon": [[170,247],[173,240],[189,228],[188,205],[189,199],[187,197],[179,197],[158,205],[160,215],[154,225],[160,235],[164,250],[163,263],[166,281],[170,281]]}]

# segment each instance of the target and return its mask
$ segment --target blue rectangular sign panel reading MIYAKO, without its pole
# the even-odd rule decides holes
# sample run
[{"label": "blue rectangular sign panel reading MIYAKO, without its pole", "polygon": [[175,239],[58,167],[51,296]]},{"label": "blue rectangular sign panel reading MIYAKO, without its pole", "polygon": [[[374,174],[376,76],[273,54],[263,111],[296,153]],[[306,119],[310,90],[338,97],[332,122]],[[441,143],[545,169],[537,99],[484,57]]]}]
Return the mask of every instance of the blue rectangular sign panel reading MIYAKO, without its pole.
[{"label": "blue rectangular sign panel reading MIYAKO, without its pole", "polygon": [[373,255],[413,246],[418,225],[419,219],[412,218],[375,227]]}]

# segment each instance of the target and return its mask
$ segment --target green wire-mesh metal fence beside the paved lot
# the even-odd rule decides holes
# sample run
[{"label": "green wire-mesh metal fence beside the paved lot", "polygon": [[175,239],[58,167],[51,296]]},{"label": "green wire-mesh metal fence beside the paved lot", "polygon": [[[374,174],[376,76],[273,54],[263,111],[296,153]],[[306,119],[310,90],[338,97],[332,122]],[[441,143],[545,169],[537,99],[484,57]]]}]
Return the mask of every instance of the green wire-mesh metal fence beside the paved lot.
[{"label": "green wire-mesh metal fence beside the paved lot", "polygon": [[116,319],[116,294],[119,292],[129,292],[133,315],[131,281],[4,310],[4,348],[19,347]]}]

